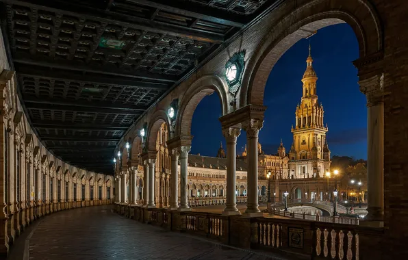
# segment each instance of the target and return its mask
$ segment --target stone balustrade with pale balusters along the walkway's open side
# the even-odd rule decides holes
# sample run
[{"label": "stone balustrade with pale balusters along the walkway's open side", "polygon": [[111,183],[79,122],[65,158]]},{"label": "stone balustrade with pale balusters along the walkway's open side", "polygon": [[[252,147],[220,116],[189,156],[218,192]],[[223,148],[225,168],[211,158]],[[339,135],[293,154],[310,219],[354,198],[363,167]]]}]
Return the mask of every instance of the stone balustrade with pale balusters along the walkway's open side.
[{"label": "stone balustrade with pale balusters along the walkway's open side", "polygon": [[286,218],[244,218],[216,213],[115,205],[117,213],[222,244],[311,259],[375,259],[383,229]]}]

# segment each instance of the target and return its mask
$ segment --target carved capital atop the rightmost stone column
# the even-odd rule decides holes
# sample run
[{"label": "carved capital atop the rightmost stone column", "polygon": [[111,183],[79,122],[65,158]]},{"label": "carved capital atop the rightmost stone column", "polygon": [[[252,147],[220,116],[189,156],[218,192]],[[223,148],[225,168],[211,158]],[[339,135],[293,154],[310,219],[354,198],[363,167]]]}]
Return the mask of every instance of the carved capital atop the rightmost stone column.
[{"label": "carved capital atop the rightmost stone column", "polygon": [[359,81],[361,93],[366,95],[367,106],[382,105],[384,102],[384,73]]}]

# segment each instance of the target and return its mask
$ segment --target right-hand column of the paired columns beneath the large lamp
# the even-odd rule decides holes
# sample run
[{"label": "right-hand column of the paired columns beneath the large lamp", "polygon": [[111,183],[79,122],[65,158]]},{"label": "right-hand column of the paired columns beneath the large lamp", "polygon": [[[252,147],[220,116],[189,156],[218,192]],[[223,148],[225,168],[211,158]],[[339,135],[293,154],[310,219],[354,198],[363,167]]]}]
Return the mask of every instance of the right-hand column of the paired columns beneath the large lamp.
[{"label": "right-hand column of the paired columns beneath the large lamp", "polygon": [[[262,212],[258,208],[258,133],[263,125],[263,120],[253,119],[242,124],[242,128],[246,131],[248,158],[248,201],[244,215],[248,217],[262,216]],[[227,192],[229,193],[230,191],[227,190]],[[235,196],[235,187],[233,188],[233,195]]]}]

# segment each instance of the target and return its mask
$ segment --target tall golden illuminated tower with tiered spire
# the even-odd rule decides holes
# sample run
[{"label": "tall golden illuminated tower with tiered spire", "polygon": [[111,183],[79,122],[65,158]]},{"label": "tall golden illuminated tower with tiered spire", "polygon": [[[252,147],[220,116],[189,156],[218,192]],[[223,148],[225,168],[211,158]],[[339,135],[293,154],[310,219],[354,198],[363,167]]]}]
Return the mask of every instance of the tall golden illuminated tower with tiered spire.
[{"label": "tall golden illuminated tower with tiered spire", "polygon": [[327,125],[324,126],[323,106],[318,103],[311,47],[303,74],[301,104],[296,107],[295,127],[292,126],[293,145],[290,151],[290,174],[292,178],[324,177],[330,168],[329,148],[326,141]]}]

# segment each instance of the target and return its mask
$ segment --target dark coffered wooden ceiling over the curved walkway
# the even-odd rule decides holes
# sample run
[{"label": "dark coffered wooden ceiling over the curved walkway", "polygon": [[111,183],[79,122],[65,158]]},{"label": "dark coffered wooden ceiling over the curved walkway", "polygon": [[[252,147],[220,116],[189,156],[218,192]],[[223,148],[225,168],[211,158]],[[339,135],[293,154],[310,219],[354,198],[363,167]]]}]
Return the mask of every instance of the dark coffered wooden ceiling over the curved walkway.
[{"label": "dark coffered wooden ceiling over the curved walkway", "polygon": [[279,0],[1,0],[18,92],[64,161],[113,173],[125,131]]}]

